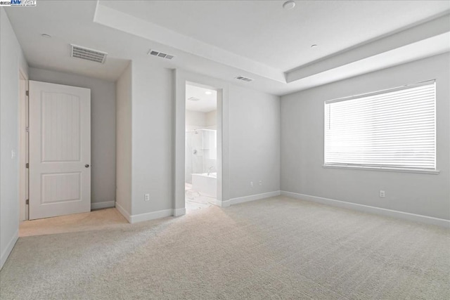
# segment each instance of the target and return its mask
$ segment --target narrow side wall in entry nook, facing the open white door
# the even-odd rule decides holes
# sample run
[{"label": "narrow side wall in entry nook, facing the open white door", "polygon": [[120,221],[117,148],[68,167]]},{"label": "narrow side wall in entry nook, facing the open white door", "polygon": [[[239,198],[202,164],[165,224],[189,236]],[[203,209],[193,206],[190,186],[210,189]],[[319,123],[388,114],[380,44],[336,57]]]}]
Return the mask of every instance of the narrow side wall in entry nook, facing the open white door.
[{"label": "narrow side wall in entry nook, facing the open white door", "polygon": [[131,215],[131,70],[130,63],[116,82],[116,207],[126,216]]}]

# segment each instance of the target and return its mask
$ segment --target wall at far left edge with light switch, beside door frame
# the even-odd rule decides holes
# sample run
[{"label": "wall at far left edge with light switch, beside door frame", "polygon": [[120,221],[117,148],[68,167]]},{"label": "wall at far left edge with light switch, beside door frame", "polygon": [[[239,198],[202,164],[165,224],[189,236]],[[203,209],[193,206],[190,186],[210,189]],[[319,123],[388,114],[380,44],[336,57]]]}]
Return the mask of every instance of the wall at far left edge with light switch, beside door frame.
[{"label": "wall at far left edge with light switch, beside door frame", "polygon": [[[19,229],[19,69],[27,62],[4,8],[0,8],[0,268]],[[11,158],[11,150],[16,157]]]}]

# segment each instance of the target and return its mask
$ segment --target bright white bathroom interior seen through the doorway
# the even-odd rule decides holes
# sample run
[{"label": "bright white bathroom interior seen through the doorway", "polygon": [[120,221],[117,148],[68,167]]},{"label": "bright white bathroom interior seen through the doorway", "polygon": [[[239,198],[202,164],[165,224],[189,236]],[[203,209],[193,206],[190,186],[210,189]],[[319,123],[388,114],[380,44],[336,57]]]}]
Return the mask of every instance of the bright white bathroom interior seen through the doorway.
[{"label": "bright white bathroom interior seen through the doorway", "polygon": [[186,211],[203,209],[217,198],[217,91],[186,84]]}]

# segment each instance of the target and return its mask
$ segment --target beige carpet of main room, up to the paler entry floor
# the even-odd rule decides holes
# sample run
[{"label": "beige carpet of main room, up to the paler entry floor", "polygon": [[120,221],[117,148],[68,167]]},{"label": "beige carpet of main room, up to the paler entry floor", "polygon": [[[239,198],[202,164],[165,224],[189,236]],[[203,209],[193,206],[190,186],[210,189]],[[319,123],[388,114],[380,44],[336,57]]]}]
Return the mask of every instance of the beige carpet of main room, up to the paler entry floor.
[{"label": "beige carpet of main room, up to the paler entry floor", "polygon": [[446,228],[274,197],[20,237],[5,299],[449,299]]}]

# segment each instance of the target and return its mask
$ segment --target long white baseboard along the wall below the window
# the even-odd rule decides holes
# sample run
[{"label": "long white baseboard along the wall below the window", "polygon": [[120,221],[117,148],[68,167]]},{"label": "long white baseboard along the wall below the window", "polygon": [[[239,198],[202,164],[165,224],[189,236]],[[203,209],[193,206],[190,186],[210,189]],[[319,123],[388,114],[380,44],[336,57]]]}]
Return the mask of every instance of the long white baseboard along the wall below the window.
[{"label": "long white baseboard along the wall below the window", "polygon": [[352,202],[333,200],[333,199],[328,199],[328,198],[323,198],[323,197],[291,193],[291,192],[286,192],[284,190],[281,191],[281,195],[288,196],[288,197],[291,197],[294,199],[300,199],[300,200],[306,200],[306,201],[311,201],[311,202],[317,202],[317,203],[321,203],[321,204],[327,204],[327,205],[331,205],[333,207],[342,207],[345,209],[364,211],[364,212],[368,212],[371,214],[379,214],[382,216],[392,216],[392,217],[398,218],[398,219],[405,219],[405,220],[409,220],[409,221],[428,223],[431,225],[450,228],[450,220],[434,218],[432,216],[423,216],[420,214],[410,214],[410,213],[404,212],[404,211],[383,209],[380,207],[371,207],[371,206],[364,205],[364,204],[356,204],[356,203],[352,203]]}]

